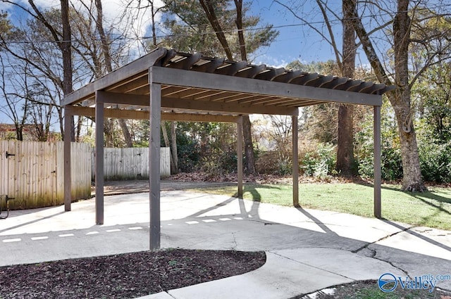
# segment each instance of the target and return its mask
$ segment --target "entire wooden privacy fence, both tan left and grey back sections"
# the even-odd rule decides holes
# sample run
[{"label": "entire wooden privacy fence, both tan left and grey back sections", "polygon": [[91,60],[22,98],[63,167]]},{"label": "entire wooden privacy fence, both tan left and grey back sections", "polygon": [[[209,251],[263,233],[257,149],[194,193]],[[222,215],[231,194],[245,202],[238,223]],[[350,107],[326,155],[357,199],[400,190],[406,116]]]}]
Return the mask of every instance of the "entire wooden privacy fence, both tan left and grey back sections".
[{"label": "entire wooden privacy fence, both tan left and grey back sections", "polygon": [[[94,151],[89,144],[71,143],[73,201],[91,197]],[[161,148],[161,177],[171,175],[169,148]],[[105,148],[107,180],[148,179],[149,148]],[[15,198],[10,208],[41,208],[64,203],[63,142],[1,141],[0,196]],[[4,201],[1,201],[6,208]]]}]

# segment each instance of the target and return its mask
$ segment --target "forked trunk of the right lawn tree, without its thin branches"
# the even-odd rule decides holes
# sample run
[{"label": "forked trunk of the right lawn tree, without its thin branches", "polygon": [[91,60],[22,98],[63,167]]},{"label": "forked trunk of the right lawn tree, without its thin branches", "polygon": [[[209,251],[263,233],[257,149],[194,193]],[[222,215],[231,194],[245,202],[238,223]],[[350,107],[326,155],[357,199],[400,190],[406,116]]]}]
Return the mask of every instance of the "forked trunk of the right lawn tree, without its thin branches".
[{"label": "forked trunk of the right lawn tree, without its thin branches", "polygon": [[[402,187],[403,191],[425,191],[421,170],[419,165],[418,145],[416,144],[416,134],[412,122],[413,112],[410,106],[409,87],[409,36],[410,18],[408,15],[409,0],[398,0],[397,13],[393,22],[393,48],[395,50],[395,91],[388,92],[388,99],[395,110],[398,130],[401,141],[402,158]],[[383,68],[381,60],[369,39],[362,20],[360,20],[357,10],[354,10],[351,18],[357,36],[362,42],[366,57],[371,63],[379,82],[386,85],[393,85],[390,77]]]}]

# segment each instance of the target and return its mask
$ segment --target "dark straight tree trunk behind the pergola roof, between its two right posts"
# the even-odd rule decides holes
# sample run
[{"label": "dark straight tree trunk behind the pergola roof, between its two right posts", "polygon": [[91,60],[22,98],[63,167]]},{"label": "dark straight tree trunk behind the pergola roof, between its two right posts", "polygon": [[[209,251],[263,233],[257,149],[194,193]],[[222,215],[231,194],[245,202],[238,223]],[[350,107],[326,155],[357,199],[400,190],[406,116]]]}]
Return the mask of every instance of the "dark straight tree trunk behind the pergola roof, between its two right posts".
[{"label": "dark straight tree trunk behind the pergola roof, between its two right posts", "polygon": [[[356,8],[355,0],[343,0],[343,60],[342,75],[353,78],[355,70],[355,32],[350,19]],[[338,107],[338,146],[336,170],[343,177],[352,177],[357,174],[354,160],[354,132],[353,132],[354,105],[340,103]]]}]

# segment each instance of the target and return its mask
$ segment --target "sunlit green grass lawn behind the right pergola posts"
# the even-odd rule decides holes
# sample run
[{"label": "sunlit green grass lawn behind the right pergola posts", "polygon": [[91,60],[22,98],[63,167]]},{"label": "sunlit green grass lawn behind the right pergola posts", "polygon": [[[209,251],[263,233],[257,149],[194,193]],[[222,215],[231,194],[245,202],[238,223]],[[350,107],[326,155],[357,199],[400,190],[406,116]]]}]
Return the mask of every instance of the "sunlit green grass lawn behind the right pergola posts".
[{"label": "sunlit green grass lawn behind the right pergola posts", "polygon": [[[451,189],[429,187],[424,193],[399,191],[400,186],[382,186],[382,217],[417,226],[451,230]],[[192,191],[236,196],[235,186]],[[261,203],[292,205],[292,186],[245,184],[243,197]],[[355,183],[299,184],[302,208],[332,210],[373,217],[373,187]]]}]

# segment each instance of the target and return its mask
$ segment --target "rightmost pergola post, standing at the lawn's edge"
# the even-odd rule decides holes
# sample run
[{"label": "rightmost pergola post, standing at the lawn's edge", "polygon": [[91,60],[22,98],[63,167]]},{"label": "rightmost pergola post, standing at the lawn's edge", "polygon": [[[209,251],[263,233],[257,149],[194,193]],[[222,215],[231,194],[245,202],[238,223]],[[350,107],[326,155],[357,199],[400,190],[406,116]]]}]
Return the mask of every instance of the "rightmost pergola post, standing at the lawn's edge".
[{"label": "rightmost pergola post, standing at the lawn's edge", "polygon": [[381,219],[381,106],[374,106],[374,217]]}]

